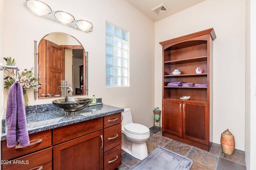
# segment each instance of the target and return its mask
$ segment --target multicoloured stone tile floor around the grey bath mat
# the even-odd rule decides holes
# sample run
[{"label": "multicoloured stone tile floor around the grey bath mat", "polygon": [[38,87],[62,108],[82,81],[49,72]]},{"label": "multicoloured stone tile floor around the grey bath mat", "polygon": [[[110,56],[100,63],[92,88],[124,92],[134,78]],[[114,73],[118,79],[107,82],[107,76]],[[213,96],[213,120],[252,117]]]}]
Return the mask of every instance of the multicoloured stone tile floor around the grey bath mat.
[{"label": "multicoloured stone tile floor around the grey bath mat", "polygon": [[[232,155],[225,154],[219,144],[213,143],[210,152],[162,136],[158,127],[150,127],[150,137],[146,141],[148,154],[157,147],[186,156],[193,160],[190,170],[246,170],[244,151],[236,150]],[[140,160],[122,150],[122,164],[116,170],[128,170]]]}]

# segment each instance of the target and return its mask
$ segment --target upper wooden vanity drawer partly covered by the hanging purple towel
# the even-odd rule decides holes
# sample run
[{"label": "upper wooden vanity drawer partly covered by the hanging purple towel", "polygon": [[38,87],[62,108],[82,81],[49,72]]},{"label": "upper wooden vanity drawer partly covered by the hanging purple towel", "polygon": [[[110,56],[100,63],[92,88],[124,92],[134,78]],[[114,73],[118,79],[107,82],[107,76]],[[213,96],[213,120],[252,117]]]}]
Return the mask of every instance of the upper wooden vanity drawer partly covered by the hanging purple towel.
[{"label": "upper wooden vanity drawer partly covered by the hanging purple towel", "polygon": [[52,145],[52,130],[32,133],[29,135],[29,141],[29,146],[17,149],[15,149],[16,147],[8,148],[6,140],[2,141],[2,160],[10,160],[24,154],[50,147]]}]

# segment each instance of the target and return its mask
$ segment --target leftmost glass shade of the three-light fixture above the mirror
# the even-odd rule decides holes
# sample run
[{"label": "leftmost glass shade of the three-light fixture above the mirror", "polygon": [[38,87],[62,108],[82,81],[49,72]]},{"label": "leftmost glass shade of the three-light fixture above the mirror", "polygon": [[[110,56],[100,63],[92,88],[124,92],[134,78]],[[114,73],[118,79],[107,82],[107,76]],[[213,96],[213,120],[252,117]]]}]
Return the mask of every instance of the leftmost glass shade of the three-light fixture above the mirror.
[{"label": "leftmost glass shade of the three-light fixture above the mirror", "polygon": [[37,15],[47,15],[52,12],[50,6],[39,0],[26,0],[26,5]]}]

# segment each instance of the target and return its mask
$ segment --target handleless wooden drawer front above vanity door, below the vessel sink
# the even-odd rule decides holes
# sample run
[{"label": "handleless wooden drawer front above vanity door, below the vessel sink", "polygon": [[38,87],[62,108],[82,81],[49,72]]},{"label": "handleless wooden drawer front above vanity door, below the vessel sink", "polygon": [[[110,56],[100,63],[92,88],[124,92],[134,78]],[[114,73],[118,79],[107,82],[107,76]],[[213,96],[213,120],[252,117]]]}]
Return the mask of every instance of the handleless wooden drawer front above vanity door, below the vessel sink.
[{"label": "handleless wooden drawer front above vanity door, below the vessel sink", "polygon": [[102,117],[53,129],[53,145],[103,129]]}]

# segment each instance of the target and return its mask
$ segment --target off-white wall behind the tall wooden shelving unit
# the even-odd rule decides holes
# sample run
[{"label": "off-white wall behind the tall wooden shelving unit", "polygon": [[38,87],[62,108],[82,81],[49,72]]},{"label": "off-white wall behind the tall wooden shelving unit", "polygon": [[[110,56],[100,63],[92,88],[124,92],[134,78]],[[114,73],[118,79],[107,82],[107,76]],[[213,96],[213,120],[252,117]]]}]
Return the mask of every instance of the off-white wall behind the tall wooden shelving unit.
[{"label": "off-white wall behind the tall wooden shelving unit", "polygon": [[155,23],[155,105],[162,103],[161,41],[214,28],[213,142],[226,129],[244,150],[245,2],[206,0]]}]

